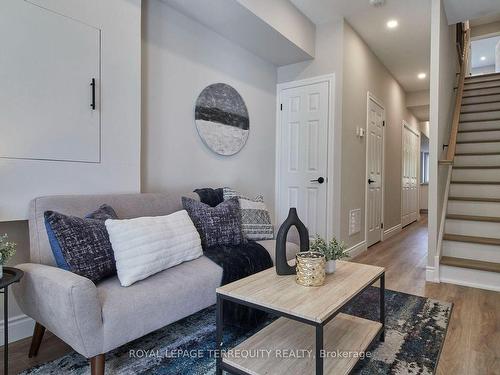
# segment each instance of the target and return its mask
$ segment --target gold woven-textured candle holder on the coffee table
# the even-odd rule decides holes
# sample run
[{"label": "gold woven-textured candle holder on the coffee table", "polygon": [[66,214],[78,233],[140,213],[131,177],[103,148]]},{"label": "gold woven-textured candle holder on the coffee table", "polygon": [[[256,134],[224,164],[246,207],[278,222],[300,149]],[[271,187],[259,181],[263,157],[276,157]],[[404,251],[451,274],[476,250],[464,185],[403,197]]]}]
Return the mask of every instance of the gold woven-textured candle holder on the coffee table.
[{"label": "gold woven-textured candle holder on the coffee table", "polygon": [[325,282],[325,256],[314,251],[298,253],[295,280],[304,286],[321,286]]}]

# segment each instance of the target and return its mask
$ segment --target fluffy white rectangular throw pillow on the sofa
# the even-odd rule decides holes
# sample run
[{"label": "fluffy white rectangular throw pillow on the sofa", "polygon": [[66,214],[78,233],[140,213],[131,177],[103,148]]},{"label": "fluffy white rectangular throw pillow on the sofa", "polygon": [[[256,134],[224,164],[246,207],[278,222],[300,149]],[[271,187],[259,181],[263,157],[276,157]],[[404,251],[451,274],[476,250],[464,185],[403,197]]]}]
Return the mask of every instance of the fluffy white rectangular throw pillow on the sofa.
[{"label": "fluffy white rectangular throw pillow on the sofa", "polygon": [[167,216],[105,222],[122,286],[203,255],[198,231],[185,210]]}]

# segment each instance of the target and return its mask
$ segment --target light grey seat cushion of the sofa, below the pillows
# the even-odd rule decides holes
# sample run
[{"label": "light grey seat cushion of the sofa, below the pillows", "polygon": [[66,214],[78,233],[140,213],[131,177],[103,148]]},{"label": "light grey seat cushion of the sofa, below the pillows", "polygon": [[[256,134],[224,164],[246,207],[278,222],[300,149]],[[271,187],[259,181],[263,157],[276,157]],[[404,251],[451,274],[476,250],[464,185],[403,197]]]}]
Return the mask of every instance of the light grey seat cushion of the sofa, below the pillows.
[{"label": "light grey seat cushion of the sofa, below the pillows", "polygon": [[222,268],[202,256],[123,288],[117,277],[97,286],[102,305],[103,352],[215,303]]}]

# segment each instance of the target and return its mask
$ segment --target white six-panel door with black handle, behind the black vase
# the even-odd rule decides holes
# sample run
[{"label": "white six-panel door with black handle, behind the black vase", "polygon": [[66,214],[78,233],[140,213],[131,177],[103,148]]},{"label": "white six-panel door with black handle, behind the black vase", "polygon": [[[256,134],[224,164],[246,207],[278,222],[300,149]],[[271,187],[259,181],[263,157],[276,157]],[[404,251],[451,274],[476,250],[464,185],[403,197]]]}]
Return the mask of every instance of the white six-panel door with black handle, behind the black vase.
[{"label": "white six-panel door with black handle, behind the black vase", "polygon": [[278,224],[296,207],[310,236],[326,237],[329,82],[281,91]]}]

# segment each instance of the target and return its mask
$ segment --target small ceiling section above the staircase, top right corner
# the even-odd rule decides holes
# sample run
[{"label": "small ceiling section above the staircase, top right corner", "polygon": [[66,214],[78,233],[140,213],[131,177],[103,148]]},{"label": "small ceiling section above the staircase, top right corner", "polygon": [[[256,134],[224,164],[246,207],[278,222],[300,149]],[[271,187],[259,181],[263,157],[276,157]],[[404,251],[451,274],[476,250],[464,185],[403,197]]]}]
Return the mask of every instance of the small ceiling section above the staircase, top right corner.
[{"label": "small ceiling section above the staircase, top right corner", "polygon": [[444,0],[444,9],[448,23],[451,25],[457,22],[496,15],[500,13],[500,1]]}]

